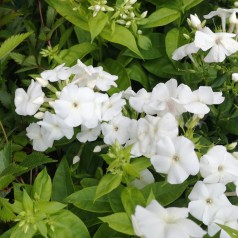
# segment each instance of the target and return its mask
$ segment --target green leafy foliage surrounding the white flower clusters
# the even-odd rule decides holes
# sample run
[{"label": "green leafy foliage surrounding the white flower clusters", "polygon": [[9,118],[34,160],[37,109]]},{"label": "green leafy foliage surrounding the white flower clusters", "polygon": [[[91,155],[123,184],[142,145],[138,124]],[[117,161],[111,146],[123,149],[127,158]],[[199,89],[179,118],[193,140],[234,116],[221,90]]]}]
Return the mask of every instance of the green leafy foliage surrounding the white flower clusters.
[{"label": "green leafy foliage surrounding the white flower clusters", "polygon": [[[121,2],[109,1],[111,5]],[[226,100],[211,109],[206,124],[199,128],[199,138],[192,139],[199,139],[205,150],[211,144],[237,141],[238,88],[228,80],[237,70],[237,55],[226,64],[209,66],[199,59],[198,66],[189,60],[175,62],[171,59],[172,52],[188,42],[183,34],[190,34],[186,21],[190,14],[196,13],[202,18],[218,6],[233,7],[234,1],[138,2],[141,2],[138,5],[140,13],[147,10],[148,17],[126,28],[115,23],[113,13],[101,12],[93,17],[87,1],[1,1],[1,238],[21,234],[14,219],[20,211],[27,212],[38,206],[38,200],[42,204],[47,202],[53,210],[43,216],[50,216],[59,224],[55,225],[57,234],[54,236],[48,221],[45,225],[39,221],[37,237],[47,237],[47,234],[50,237],[66,237],[64,234],[67,237],[132,237],[130,215],[137,204],[145,206],[155,197],[164,206],[183,206],[190,186],[196,181],[190,179],[174,186],[165,184],[161,176],[155,175],[157,182],[142,190],[126,187],[121,183],[122,177],[104,175],[108,161],[93,153],[102,141],[80,144],[75,139],[61,140],[45,153],[34,152],[25,135],[26,126],[34,119],[22,118],[15,113],[14,93],[17,87],[26,88],[31,77],[43,70],[61,63],[72,66],[77,59],[88,65],[101,65],[104,70],[119,76],[118,89],[111,90],[110,94],[129,86],[134,90],[143,87],[151,91],[158,82],[170,78],[193,89],[200,85],[212,86],[216,91],[223,91]],[[216,22],[208,20],[207,24],[214,28]],[[217,24],[220,24],[219,19]],[[137,33],[138,29],[142,31],[141,35]],[[72,165],[73,157],[79,151],[82,152],[81,160]],[[126,151],[123,153],[126,157]],[[129,163],[133,165],[133,161]],[[141,170],[149,165],[142,158],[133,166]],[[128,168],[126,171],[133,174]],[[43,188],[44,183],[48,187]],[[40,188],[42,190],[37,191],[40,198],[36,199],[34,190]],[[28,233],[22,233],[21,237],[34,236],[34,229]]]}]

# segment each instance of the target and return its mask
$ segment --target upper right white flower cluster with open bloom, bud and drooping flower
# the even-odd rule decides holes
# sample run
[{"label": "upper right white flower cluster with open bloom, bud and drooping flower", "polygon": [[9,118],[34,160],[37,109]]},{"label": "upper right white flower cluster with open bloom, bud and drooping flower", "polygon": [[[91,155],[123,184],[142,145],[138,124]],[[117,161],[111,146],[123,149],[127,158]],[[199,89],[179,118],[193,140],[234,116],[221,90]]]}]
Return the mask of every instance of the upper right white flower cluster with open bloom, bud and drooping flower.
[{"label": "upper right white flower cluster with open bloom, bud and drooping flower", "polygon": [[[192,28],[196,29],[194,41],[185,44],[175,50],[172,58],[180,60],[185,56],[189,56],[194,61],[192,54],[199,50],[208,51],[204,58],[206,63],[222,62],[227,56],[230,56],[238,51],[238,42],[234,37],[237,35],[237,9],[221,9],[210,12],[205,15],[205,19],[210,19],[214,16],[221,17],[222,32],[213,32],[209,27],[204,27],[204,23],[200,21],[197,15],[190,15],[188,22]],[[230,26],[226,32],[226,19],[229,18]],[[236,26],[236,29],[234,27]],[[235,33],[232,33],[235,30]]]}]

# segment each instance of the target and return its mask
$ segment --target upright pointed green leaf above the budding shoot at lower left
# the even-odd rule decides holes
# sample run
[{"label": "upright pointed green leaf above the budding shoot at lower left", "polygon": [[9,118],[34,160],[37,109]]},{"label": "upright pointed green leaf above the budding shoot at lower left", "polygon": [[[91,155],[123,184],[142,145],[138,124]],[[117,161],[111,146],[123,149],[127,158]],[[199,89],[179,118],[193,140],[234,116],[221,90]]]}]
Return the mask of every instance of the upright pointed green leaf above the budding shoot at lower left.
[{"label": "upright pointed green leaf above the budding shoot at lower left", "polygon": [[46,169],[43,169],[36,177],[32,195],[35,200],[49,201],[51,198],[52,183]]}]

